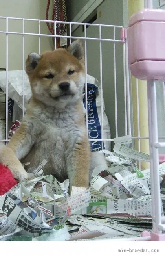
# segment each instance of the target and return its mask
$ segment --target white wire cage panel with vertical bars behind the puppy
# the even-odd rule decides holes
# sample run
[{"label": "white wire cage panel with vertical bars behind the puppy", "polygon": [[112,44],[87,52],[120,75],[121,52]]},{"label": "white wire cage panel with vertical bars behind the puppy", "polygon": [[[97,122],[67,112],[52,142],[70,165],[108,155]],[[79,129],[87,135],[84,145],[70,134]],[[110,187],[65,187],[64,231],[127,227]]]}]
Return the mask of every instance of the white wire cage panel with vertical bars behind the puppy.
[{"label": "white wire cage panel with vertical bars behind the puppy", "polygon": [[[11,45],[11,40],[10,40],[10,36],[14,36],[13,39],[15,38],[15,40],[17,40],[17,37],[19,37],[19,44],[20,44],[20,48],[22,48],[22,52],[20,51],[18,55],[18,59],[20,61],[20,59],[22,59],[22,116],[24,116],[25,113],[25,61],[27,58],[27,54],[29,52],[27,52],[26,50],[26,38],[27,37],[33,37],[35,38],[35,44],[36,42],[38,43],[38,49],[37,52],[38,54],[41,54],[42,50],[41,50],[41,41],[42,38],[53,38],[54,39],[54,49],[56,49],[56,37],[58,38],[67,38],[69,40],[69,44],[72,43],[72,40],[75,39],[81,39],[83,41],[83,45],[84,45],[84,58],[85,58],[85,67],[86,67],[86,74],[88,73],[87,71],[87,44],[89,41],[95,41],[99,43],[99,63],[97,65],[99,65],[99,82],[100,82],[100,86],[101,86],[101,134],[102,137],[100,140],[98,139],[91,139],[90,141],[101,141],[103,143],[103,141],[113,141],[113,138],[111,139],[105,139],[103,138],[103,91],[104,91],[104,85],[103,85],[103,58],[102,58],[102,51],[103,51],[103,43],[108,42],[110,43],[111,48],[113,49],[113,56],[110,56],[110,60],[109,60],[109,69],[113,71],[114,73],[114,102],[112,102],[112,104],[109,104],[108,108],[114,108],[115,109],[115,121],[114,122],[114,126],[115,126],[115,135],[114,137],[118,137],[118,134],[122,134],[122,135],[130,135],[131,134],[131,114],[130,114],[130,85],[129,85],[129,70],[128,70],[128,49],[127,49],[127,41],[125,41],[125,39],[121,39],[120,38],[120,32],[121,30],[124,30],[124,28],[122,26],[114,26],[114,25],[101,25],[101,24],[84,24],[84,23],[75,23],[75,22],[56,22],[56,21],[52,21],[52,20],[36,20],[36,19],[21,19],[21,18],[13,18],[13,17],[0,17],[1,20],[6,22],[6,28],[4,30],[1,29],[0,31],[0,35],[5,35],[4,41],[6,42],[6,46],[5,46],[5,50],[6,50],[6,59],[5,61],[5,68],[6,68],[6,100],[8,101],[8,74],[11,70],[15,70],[15,67],[11,67],[10,65],[10,61],[12,59],[13,61],[13,54],[11,54],[10,51],[10,45]],[[22,32],[15,32],[12,31],[12,29],[10,30],[9,27],[9,22],[19,22],[19,24],[22,24]],[[30,32],[26,32],[26,22],[37,22],[38,23],[38,32],[35,33],[30,33]],[[68,36],[62,36],[62,35],[56,35],[56,30],[55,30],[55,35],[50,35],[50,34],[46,34],[46,33],[41,33],[41,26],[42,24],[46,24],[46,22],[49,23],[54,23],[54,26],[56,27],[57,23],[66,23],[69,26],[69,35]],[[84,35],[79,37],[79,36],[73,36],[72,35],[72,26],[76,25],[76,26],[84,26]],[[90,37],[87,36],[87,27],[95,27],[98,29],[98,35],[97,37]],[[21,27],[21,25],[20,25]],[[111,31],[111,38],[105,38],[102,35],[102,31],[104,29],[108,29]],[[22,37],[22,39],[20,39],[20,36]],[[29,41],[30,42],[30,41]],[[13,42],[14,43],[14,42]],[[16,43],[18,43],[18,41],[16,41]],[[120,87],[122,85],[121,88],[117,89],[117,60],[116,60],[116,45],[117,47],[120,48],[122,56],[122,66],[123,66],[123,73],[122,73],[122,78],[123,80],[120,81]],[[36,45],[35,45],[36,46]],[[108,45],[109,47],[109,45]],[[20,49],[19,49],[20,50]],[[33,47],[31,47],[31,51],[33,51]],[[112,61],[113,59],[113,61]],[[121,62],[120,59],[120,62]],[[18,60],[16,59],[16,62]],[[20,64],[20,63],[19,63]],[[94,65],[95,63],[93,63]],[[2,64],[1,64],[2,65]],[[107,63],[106,63],[107,65]],[[17,69],[20,69],[21,64],[19,65],[19,67]],[[112,90],[112,85],[110,85],[110,90]],[[85,90],[87,92],[87,80],[86,80],[86,85],[85,85]],[[122,109],[118,109],[118,102],[117,102],[117,90],[122,90],[122,92],[124,93],[123,96],[123,106]],[[87,93],[86,93],[86,109],[87,109]],[[123,110],[124,107],[124,110]],[[118,112],[122,111],[122,113],[124,113],[124,119],[122,119],[122,121],[124,120],[125,122],[125,126],[123,128],[119,127],[119,117],[118,117]],[[86,112],[86,120],[88,119],[88,113]],[[86,129],[88,129],[88,124],[86,122]],[[7,110],[7,104],[6,104],[6,139],[5,141],[8,141],[8,131],[9,127],[8,127],[8,110]],[[103,148],[103,145],[102,145]]]}]

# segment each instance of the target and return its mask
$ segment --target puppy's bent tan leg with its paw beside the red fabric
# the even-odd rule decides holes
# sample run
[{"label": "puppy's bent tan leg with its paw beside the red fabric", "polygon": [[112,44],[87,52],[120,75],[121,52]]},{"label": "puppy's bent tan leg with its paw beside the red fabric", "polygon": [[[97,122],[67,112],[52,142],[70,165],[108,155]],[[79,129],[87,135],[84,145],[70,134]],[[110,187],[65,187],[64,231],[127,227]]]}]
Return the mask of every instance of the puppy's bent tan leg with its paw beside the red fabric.
[{"label": "puppy's bent tan leg with its paw beside the red fabric", "polygon": [[7,165],[14,178],[19,181],[27,177],[27,173],[19,160],[28,154],[33,145],[32,127],[33,125],[30,125],[29,122],[22,122],[7,147],[2,147],[0,152],[0,162]]}]

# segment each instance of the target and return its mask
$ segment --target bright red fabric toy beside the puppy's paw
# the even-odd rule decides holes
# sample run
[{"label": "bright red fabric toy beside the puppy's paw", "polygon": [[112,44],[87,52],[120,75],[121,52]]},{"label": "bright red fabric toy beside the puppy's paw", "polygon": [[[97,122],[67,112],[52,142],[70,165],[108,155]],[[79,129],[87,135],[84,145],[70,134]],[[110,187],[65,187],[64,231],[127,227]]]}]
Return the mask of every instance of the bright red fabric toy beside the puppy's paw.
[{"label": "bright red fabric toy beside the puppy's paw", "polygon": [[8,167],[0,163],[0,195],[4,195],[18,182],[13,178],[13,175]]}]

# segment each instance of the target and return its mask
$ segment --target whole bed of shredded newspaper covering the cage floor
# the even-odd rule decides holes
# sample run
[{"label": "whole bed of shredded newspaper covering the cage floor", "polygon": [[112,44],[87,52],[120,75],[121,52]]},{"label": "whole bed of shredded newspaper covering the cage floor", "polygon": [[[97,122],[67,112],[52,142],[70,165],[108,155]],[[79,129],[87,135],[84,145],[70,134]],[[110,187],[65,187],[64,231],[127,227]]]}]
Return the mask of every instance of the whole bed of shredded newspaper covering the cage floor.
[{"label": "whole bed of shredded newspaper covering the cage floor", "polygon": [[[109,168],[94,169],[90,188],[72,187],[71,195],[69,180],[44,176],[46,160],[29,169],[28,178],[0,196],[0,241],[86,241],[151,231],[150,169],[139,170],[137,164],[149,156],[132,149],[130,136],[114,142],[114,152],[100,152]],[[159,175],[163,215],[165,163]]]}]

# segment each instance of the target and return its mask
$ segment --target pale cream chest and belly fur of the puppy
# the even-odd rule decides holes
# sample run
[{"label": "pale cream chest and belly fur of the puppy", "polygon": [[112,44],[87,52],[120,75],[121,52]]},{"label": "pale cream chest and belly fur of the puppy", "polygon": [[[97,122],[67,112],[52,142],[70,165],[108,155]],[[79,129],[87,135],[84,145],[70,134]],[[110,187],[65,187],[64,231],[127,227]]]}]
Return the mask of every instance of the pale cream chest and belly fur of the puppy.
[{"label": "pale cream chest and belly fur of the puppy", "polygon": [[76,123],[79,114],[72,108],[66,108],[62,113],[57,110],[50,112],[49,109],[34,110],[33,119],[29,120],[35,122],[33,130],[29,130],[34,143],[22,160],[30,162],[28,168],[37,167],[45,158],[48,161],[45,174],[55,174],[59,180],[67,178],[66,158],[72,157],[75,143],[81,142],[84,132],[84,127]]}]

